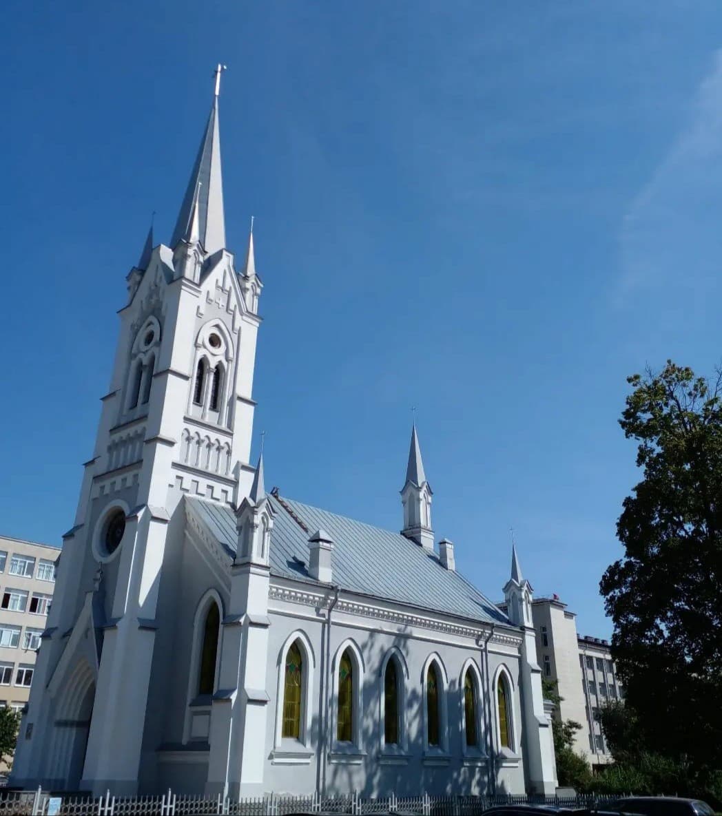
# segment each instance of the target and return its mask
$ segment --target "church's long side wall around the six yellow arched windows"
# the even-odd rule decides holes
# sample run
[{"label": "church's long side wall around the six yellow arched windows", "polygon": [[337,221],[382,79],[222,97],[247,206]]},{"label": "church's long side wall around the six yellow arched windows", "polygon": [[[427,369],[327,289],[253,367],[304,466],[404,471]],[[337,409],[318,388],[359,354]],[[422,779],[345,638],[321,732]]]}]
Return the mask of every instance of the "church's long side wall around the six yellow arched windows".
[{"label": "church's long side wall around the six yellow arched windows", "polygon": [[[265,772],[265,788],[276,793],[310,793],[318,789],[328,795],[358,791],[363,796],[415,796],[422,792],[430,794],[484,793],[492,790],[491,776],[497,775],[499,792],[523,793],[524,768],[520,756],[504,763],[488,759],[485,749],[487,739],[492,743],[492,755],[496,756],[496,726],[489,731],[489,722],[496,722],[496,707],[487,692],[487,667],[483,645],[472,638],[452,636],[431,629],[399,628],[391,623],[381,623],[367,618],[332,613],[332,625],[328,642],[328,655],[324,638],[325,610],[319,612],[312,606],[287,605],[285,610],[270,613],[270,641],[268,654],[268,688],[270,696],[267,718],[266,748],[269,760]],[[303,632],[312,650],[312,688],[310,702],[310,756],[294,756],[294,741],[279,743],[279,717],[283,707],[279,695],[283,695],[283,667],[281,659],[284,645],[293,640],[294,632]],[[336,712],[334,680],[336,661],[346,645],[352,644],[363,663],[361,693],[358,700],[359,736],[358,746],[349,750],[336,743]],[[390,652],[399,656],[403,666],[403,735],[401,750],[397,756],[383,756],[381,699],[382,667]],[[424,678],[429,659],[435,658],[443,674],[441,696],[442,742],[444,751],[430,750],[426,746],[426,695]],[[483,707],[481,744],[484,752],[465,752],[466,738],[463,730],[462,671],[474,663],[482,678],[481,698]],[[503,664],[510,676],[513,690],[515,740],[521,744],[521,717],[519,699],[519,648],[518,645],[492,645],[488,655],[489,683],[497,676]],[[408,672],[408,676],[407,676]],[[332,688],[325,686],[328,676]],[[322,685],[323,684],[323,685]],[[491,695],[493,697],[493,694]],[[328,700],[328,716],[324,705]],[[325,745],[324,745],[325,742]],[[328,763],[319,756],[328,752]],[[472,755],[470,755],[470,753]],[[516,752],[520,754],[520,751]]]}]

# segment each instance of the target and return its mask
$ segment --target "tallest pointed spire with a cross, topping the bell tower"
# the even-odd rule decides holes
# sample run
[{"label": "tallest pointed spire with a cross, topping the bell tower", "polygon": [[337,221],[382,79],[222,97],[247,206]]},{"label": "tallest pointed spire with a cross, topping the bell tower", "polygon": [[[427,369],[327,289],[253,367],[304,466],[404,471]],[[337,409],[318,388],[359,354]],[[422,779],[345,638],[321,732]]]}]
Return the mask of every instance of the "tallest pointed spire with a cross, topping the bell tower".
[{"label": "tallest pointed spire with a cross, topping the bell tower", "polygon": [[[223,214],[223,179],[221,175],[221,137],[218,126],[218,93],[221,71],[216,69],[216,88],[213,95],[211,114],[206,131],[201,140],[198,156],[190,174],[185,197],[178,213],[176,228],[173,230],[171,246],[175,247],[189,232],[194,215],[194,200],[198,194],[198,237],[203,249],[212,254],[225,248],[225,217]],[[200,188],[198,185],[200,184]]]}]

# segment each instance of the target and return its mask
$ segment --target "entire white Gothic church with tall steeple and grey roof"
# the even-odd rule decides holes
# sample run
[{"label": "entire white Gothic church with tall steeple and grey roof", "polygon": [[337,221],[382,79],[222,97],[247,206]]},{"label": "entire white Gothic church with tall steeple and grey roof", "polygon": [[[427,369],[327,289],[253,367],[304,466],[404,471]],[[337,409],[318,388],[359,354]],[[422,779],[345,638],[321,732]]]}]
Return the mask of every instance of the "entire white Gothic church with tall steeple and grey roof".
[{"label": "entire white Gothic church with tall steeple and grey roof", "polygon": [[435,544],[416,428],[400,533],[249,461],[263,284],[252,235],[241,268],[225,244],[220,77],[171,241],[127,276],[11,784],[553,794],[532,588],[514,552],[507,617]]}]

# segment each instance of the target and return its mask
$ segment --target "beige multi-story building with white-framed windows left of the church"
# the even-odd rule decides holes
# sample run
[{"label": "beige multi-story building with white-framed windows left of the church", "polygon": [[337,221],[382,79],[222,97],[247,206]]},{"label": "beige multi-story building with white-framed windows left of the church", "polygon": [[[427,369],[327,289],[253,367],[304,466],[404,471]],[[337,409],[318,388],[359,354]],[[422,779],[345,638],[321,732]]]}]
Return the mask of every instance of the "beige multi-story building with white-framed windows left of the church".
[{"label": "beige multi-story building with white-framed windows left of the church", "polygon": [[0,536],[0,707],[28,702],[60,549]]}]

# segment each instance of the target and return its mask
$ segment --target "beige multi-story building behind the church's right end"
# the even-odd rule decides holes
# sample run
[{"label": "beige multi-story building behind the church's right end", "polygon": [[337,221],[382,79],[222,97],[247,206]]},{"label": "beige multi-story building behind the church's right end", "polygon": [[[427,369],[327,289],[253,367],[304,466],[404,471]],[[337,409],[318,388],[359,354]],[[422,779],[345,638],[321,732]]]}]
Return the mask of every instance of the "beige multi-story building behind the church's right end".
[{"label": "beige multi-story building behind the church's right end", "polygon": [[582,725],[577,731],[575,751],[586,756],[592,767],[606,765],[612,756],[595,715],[608,700],[622,699],[624,694],[608,641],[580,637],[576,613],[569,611],[556,595],[534,599],[532,621],[541,676],[556,681],[562,698],[558,716]]}]

